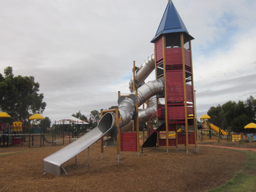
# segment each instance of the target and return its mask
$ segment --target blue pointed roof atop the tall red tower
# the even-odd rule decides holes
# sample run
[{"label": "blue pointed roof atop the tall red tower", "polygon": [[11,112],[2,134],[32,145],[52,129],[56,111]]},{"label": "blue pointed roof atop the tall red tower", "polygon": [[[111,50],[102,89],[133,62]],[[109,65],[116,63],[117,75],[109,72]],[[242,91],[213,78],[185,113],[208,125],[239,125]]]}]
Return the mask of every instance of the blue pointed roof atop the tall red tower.
[{"label": "blue pointed roof atop the tall red tower", "polygon": [[[174,7],[172,0],[169,0],[158,30],[156,32],[156,36],[151,40],[151,43],[153,43],[154,40],[158,38],[158,36],[160,36],[161,34],[174,32],[186,32],[188,34],[188,30],[184,25],[182,19],[180,18],[180,15],[178,14],[176,8]],[[194,39],[192,36],[190,37],[192,40]]]}]

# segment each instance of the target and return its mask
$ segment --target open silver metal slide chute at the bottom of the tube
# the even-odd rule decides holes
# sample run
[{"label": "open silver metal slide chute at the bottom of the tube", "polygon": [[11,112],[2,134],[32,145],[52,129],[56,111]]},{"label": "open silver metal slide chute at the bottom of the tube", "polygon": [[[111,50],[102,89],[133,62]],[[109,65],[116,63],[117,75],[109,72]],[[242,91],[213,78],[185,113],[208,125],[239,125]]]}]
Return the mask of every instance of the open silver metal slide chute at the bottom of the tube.
[{"label": "open silver metal slide chute at the bottom of the tube", "polygon": [[60,176],[61,164],[70,160],[96,141],[107,136],[115,126],[116,115],[114,113],[105,114],[98,123],[98,126],[80,137],[78,140],[70,143],[61,150],[44,158],[44,171]]}]

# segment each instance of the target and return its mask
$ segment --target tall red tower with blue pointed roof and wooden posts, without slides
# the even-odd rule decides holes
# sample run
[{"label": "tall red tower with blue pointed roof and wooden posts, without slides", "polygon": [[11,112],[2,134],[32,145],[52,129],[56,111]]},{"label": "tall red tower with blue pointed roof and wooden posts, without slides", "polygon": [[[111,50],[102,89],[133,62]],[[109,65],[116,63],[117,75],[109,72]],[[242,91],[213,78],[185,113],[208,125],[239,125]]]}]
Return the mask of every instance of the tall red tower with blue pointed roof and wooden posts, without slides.
[{"label": "tall red tower with blue pointed roof and wooden posts, without slides", "polygon": [[[164,96],[158,98],[158,121],[162,121],[158,132],[158,146],[184,144],[188,153],[188,145],[195,145],[197,152],[197,128],[194,100],[194,82],[192,68],[191,40],[174,4],[171,0],[152,39],[154,43],[156,79],[164,78]],[[181,128],[181,131],[178,129]],[[169,133],[175,132],[170,138]],[[174,135],[174,134],[173,134]]]}]

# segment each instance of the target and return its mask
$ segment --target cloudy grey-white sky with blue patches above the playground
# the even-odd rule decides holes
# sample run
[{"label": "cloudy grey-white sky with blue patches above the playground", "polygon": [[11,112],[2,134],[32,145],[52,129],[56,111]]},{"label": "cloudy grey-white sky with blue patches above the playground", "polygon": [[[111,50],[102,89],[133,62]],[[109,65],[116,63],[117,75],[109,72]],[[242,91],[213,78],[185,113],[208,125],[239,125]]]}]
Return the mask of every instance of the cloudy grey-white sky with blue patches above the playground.
[{"label": "cloudy grey-white sky with blue patches above the playground", "polygon": [[[1,0],[0,73],[34,76],[54,120],[117,105],[154,53],[167,0]],[[197,115],[256,98],[256,1],[173,0],[192,40]],[[154,80],[154,74],[147,80]]]}]

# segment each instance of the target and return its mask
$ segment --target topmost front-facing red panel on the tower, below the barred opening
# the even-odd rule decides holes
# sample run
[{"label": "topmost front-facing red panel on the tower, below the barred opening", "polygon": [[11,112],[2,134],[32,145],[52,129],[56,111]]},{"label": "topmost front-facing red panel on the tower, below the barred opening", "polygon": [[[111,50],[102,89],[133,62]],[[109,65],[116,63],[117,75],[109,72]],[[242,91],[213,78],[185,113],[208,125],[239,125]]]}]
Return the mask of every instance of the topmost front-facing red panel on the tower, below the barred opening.
[{"label": "topmost front-facing red panel on the tower, below the barred opening", "polygon": [[166,66],[182,64],[182,48],[165,49]]}]

